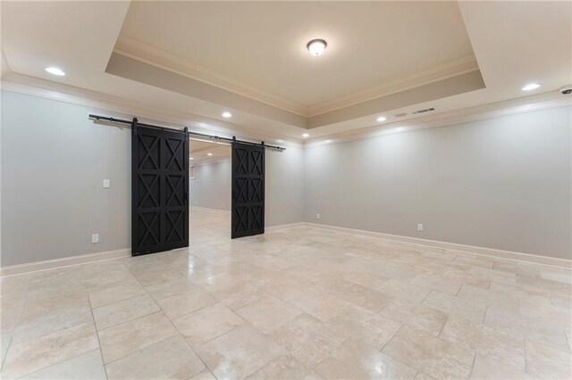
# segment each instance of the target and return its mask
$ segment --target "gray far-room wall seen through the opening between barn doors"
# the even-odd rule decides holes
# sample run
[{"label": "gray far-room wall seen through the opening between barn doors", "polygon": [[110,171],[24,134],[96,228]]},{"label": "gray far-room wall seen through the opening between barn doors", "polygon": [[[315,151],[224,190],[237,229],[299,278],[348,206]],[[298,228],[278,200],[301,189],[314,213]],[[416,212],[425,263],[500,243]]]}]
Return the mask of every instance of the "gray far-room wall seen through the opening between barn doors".
[{"label": "gray far-room wall seen through the opening between barn doors", "polygon": [[231,211],[231,158],[199,164],[195,168],[196,178],[189,180],[189,204]]}]

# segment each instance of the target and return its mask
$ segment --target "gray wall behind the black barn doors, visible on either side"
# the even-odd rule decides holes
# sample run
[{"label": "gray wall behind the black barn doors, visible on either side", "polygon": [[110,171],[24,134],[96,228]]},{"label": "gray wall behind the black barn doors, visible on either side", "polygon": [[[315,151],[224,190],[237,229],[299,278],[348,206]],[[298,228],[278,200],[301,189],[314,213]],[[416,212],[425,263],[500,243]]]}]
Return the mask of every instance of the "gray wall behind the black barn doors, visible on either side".
[{"label": "gray wall behind the black barn doors, visible on either side", "polygon": [[[3,267],[130,247],[130,129],[90,112],[130,118],[2,92]],[[302,221],[302,158],[295,147],[267,154],[266,226]]]}]

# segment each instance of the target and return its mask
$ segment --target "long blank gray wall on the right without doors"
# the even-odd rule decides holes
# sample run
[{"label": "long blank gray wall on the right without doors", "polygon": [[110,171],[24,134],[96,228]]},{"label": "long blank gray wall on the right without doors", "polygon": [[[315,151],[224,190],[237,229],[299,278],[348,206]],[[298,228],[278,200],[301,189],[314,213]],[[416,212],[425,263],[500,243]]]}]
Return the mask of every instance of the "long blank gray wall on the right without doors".
[{"label": "long blank gray wall on the right without doors", "polygon": [[571,115],[559,107],[307,148],[306,220],[570,259]]}]

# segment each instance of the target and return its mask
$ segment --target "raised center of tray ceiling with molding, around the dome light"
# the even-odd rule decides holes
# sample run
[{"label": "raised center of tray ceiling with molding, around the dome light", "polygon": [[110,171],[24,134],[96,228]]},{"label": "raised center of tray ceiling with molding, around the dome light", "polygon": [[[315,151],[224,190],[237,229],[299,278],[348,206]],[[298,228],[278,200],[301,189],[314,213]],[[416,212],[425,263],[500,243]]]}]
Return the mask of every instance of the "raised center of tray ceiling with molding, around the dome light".
[{"label": "raised center of tray ceiling with molding, around the dome light", "polygon": [[304,116],[477,69],[456,2],[133,2],[115,52]]}]

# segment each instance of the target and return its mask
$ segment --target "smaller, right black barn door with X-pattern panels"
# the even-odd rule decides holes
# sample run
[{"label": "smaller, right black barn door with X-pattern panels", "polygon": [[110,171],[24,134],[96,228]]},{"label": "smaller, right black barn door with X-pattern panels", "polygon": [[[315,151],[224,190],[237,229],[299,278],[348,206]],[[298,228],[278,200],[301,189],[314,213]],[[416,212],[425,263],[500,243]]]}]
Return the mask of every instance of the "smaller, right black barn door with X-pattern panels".
[{"label": "smaller, right black barn door with X-pattern panels", "polygon": [[231,237],[265,233],[265,147],[232,143]]}]

